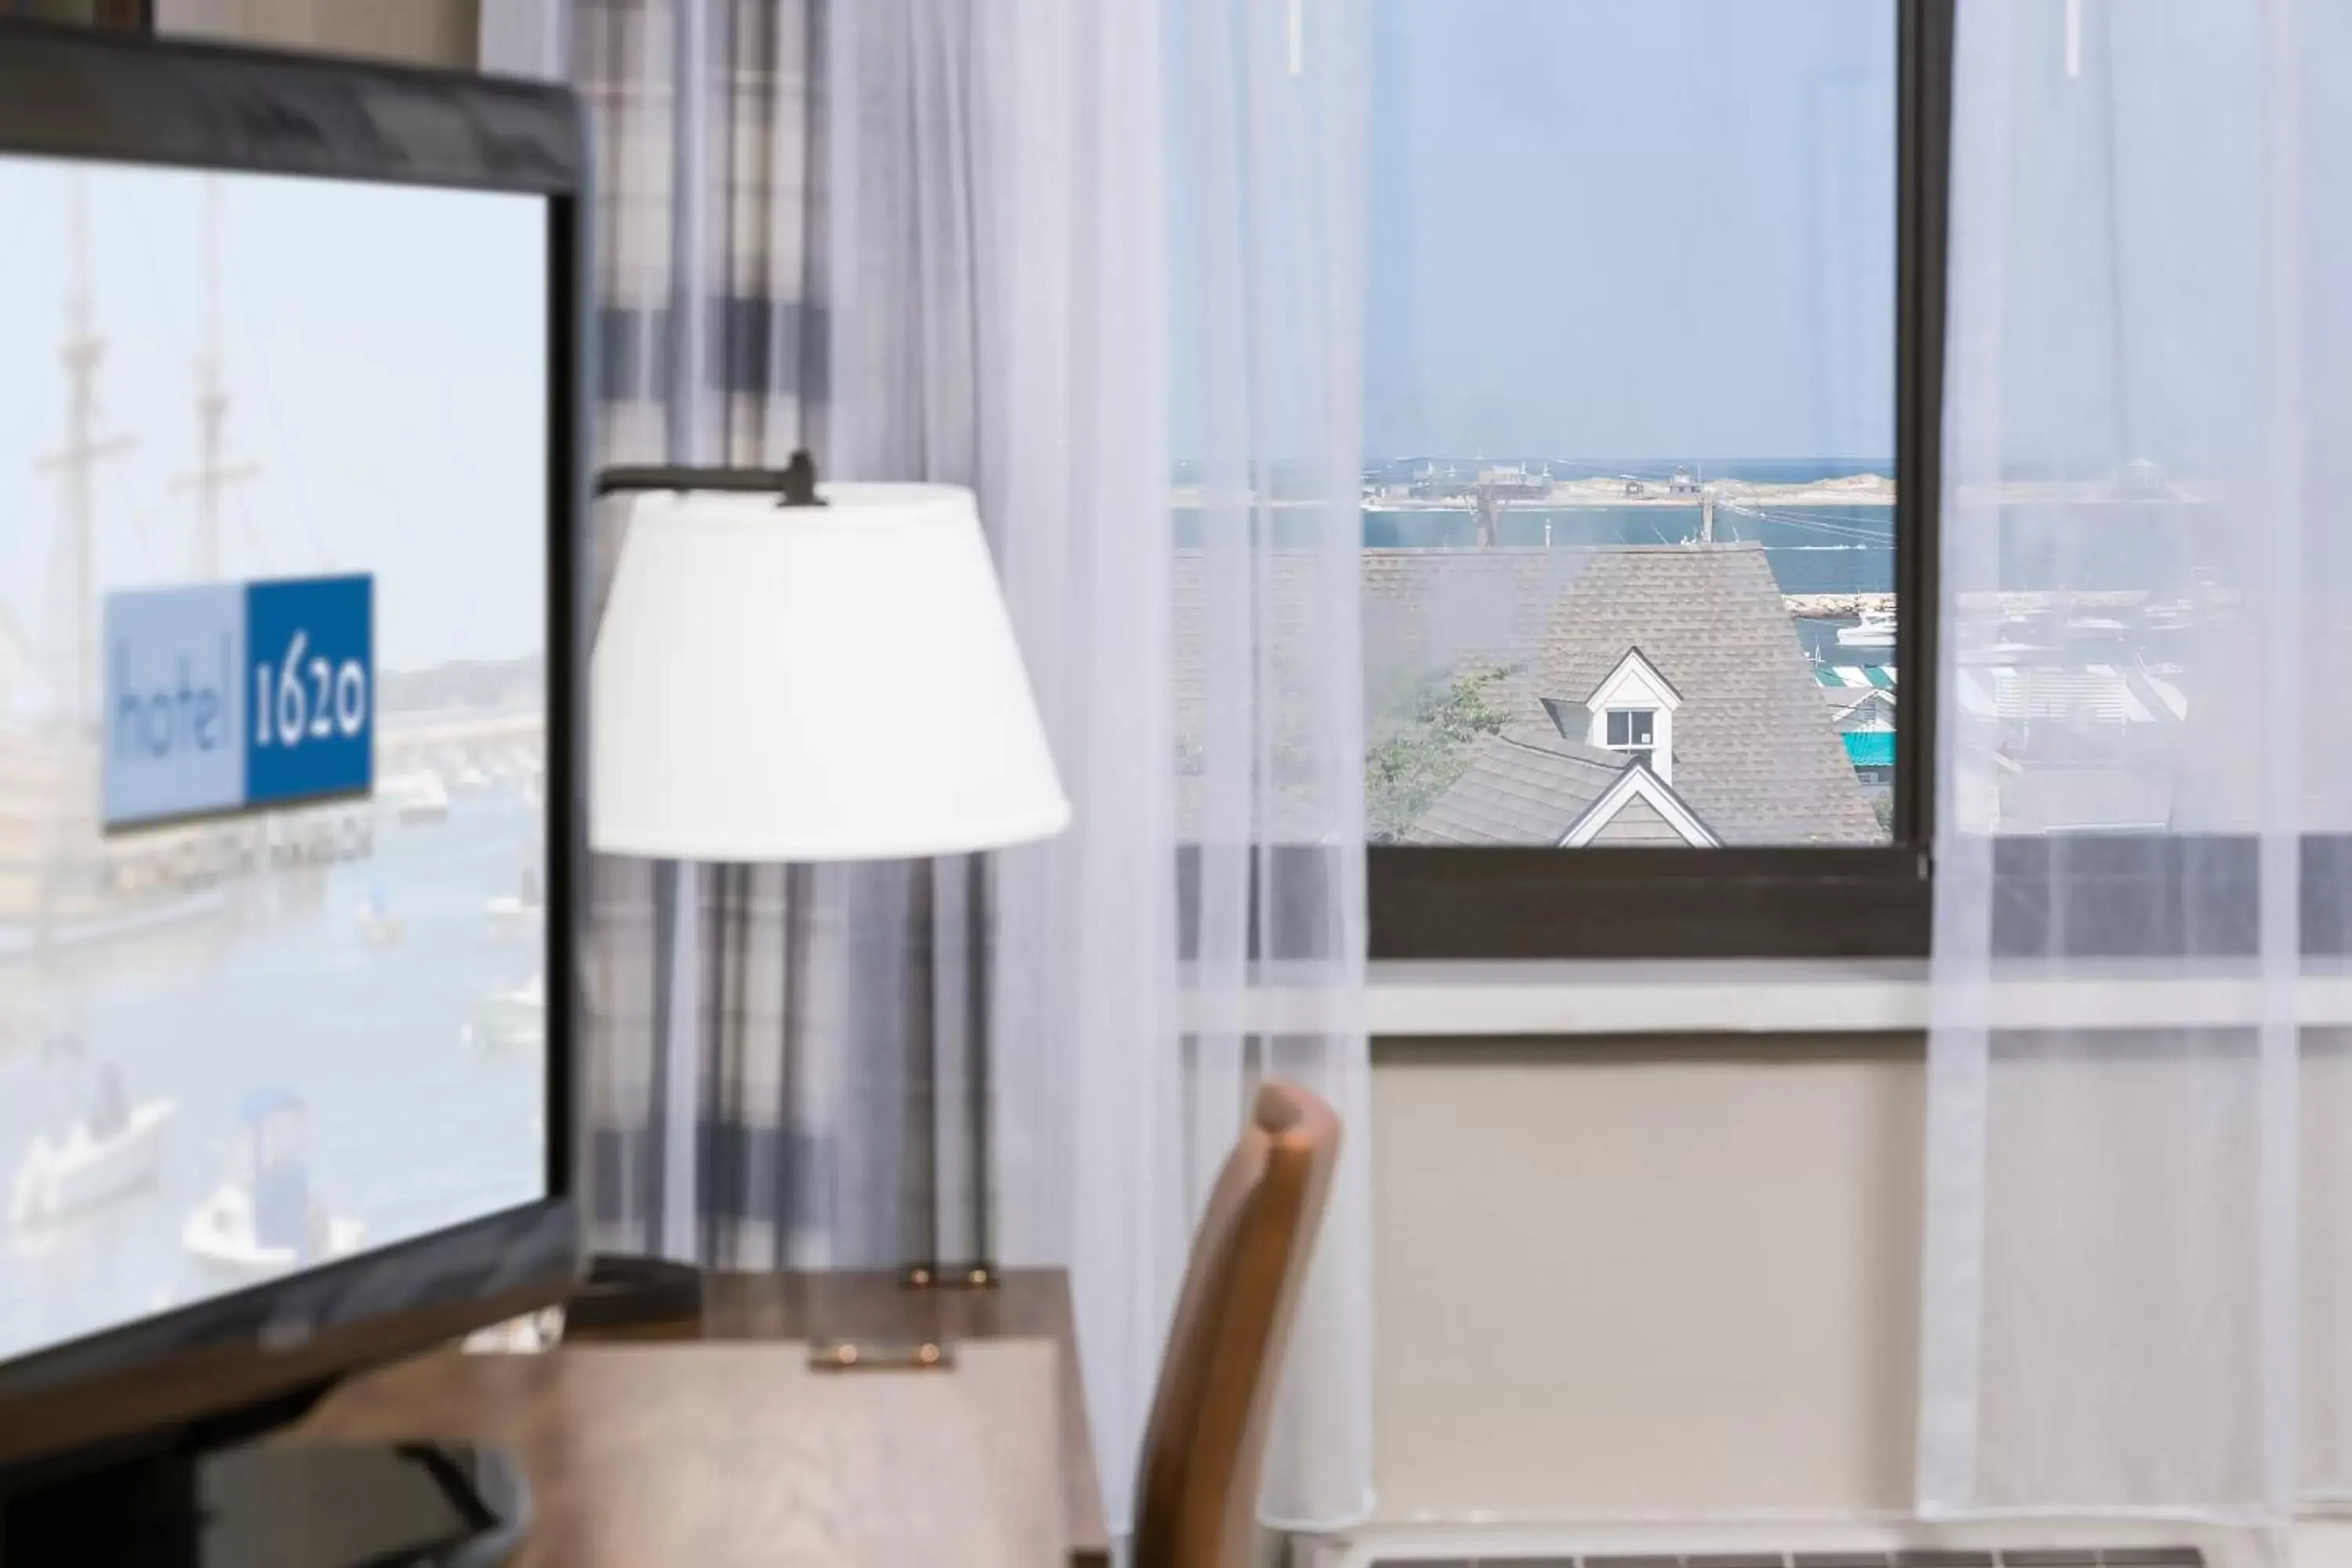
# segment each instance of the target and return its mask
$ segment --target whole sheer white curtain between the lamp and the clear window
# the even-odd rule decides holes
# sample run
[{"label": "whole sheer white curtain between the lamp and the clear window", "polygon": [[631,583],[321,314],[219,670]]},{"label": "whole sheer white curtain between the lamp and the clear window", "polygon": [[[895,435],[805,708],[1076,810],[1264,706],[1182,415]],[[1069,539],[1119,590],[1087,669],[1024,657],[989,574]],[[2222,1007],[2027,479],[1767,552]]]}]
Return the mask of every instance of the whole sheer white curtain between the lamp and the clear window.
[{"label": "whole sheer white curtain between the lamp and the clear window", "polygon": [[995,856],[990,1145],[1004,1260],[1073,1269],[1115,1523],[1263,1072],[1350,1133],[1265,1514],[1371,1479],[1352,9],[833,12],[835,465],[969,444],[1077,811]]}]

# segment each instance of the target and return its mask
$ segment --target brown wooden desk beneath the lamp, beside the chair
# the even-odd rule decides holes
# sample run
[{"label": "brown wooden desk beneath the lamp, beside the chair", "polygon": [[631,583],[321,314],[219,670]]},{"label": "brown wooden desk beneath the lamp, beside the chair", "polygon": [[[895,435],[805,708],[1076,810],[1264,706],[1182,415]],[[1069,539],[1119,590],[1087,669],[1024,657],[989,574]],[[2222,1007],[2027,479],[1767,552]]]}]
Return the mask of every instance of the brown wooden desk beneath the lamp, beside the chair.
[{"label": "brown wooden desk beneath the lamp, beside the chair", "polygon": [[[809,1371],[828,1338],[946,1338],[955,1366]],[[990,1293],[720,1274],[691,1338],[435,1352],[339,1387],[301,1434],[510,1446],[532,1568],[1110,1561],[1051,1269]]]}]

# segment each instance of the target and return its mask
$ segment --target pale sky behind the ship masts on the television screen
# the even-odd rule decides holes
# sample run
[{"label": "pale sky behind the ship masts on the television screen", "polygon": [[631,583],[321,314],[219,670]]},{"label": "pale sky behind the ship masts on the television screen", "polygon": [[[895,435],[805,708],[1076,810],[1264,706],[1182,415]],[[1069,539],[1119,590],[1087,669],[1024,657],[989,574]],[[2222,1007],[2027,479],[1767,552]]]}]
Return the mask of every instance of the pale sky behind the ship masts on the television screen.
[{"label": "pale sky behind the ship masts on the television screen", "polygon": [[[228,578],[376,574],[376,661],[546,646],[546,212],[539,197],[0,158],[0,607],[64,621],[52,583],[66,437],[71,212],[87,202],[106,341],[101,592],[193,578],[205,188],[219,200]],[[68,623],[71,625],[71,623]],[[0,628],[5,630],[5,628]],[[0,649],[5,654],[5,649]],[[5,668],[5,661],[0,661]]]}]

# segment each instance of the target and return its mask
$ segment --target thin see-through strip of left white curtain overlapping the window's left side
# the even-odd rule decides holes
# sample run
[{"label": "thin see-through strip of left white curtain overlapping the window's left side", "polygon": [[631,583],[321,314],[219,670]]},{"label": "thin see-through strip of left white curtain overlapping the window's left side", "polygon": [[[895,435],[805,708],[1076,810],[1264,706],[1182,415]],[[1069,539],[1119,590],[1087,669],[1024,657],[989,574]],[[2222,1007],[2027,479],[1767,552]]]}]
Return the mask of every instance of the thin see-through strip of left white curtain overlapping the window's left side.
[{"label": "thin see-through strip of left white curtain overlapping the window's left side", "polygon": [[[1364,9],[1171,0],[1164,68],[1188,1213],[1258,1077],[1348,1128],[1268,1458],[1289,1528],[1371,1509]],[[1254,1027],[1258,987],[1289,1001],[1279,1032]]]}]

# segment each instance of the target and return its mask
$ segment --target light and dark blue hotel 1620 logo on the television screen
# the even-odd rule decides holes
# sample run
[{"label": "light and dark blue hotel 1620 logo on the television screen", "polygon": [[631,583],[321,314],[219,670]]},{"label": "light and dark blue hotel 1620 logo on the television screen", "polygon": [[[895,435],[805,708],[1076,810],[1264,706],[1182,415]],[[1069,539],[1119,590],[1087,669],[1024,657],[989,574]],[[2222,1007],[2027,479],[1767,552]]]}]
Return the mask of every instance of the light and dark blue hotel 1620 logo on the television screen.
[{"label": "light and dark blue hotel 1620 logo on the television screen", "polygon": [[106,599],[106,825],[365,795],[376,778],[374,578]]}]

